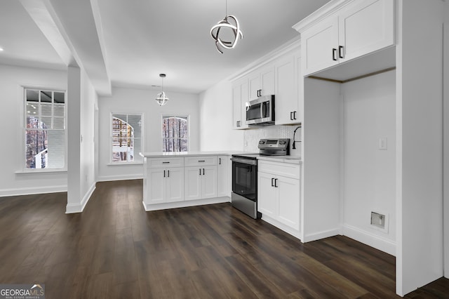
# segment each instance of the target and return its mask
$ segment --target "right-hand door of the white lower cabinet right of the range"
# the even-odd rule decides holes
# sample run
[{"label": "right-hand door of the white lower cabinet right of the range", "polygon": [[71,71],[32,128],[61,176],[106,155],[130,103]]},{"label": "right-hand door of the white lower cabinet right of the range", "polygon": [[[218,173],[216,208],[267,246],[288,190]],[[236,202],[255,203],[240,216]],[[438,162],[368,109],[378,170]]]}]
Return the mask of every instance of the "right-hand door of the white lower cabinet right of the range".
[{"label": "right-hand door of the white lower cabinet right of the range", "polygon": [[283,224],[300,230],[300,180],[276,177],[276,190],[279,192],[278,220]]}]

